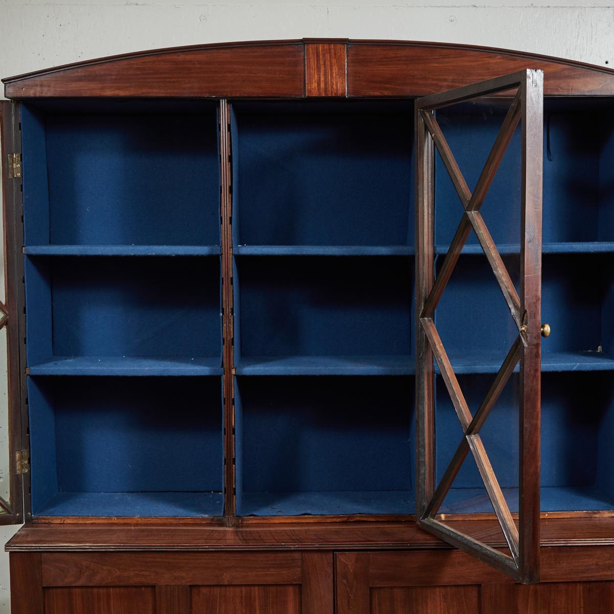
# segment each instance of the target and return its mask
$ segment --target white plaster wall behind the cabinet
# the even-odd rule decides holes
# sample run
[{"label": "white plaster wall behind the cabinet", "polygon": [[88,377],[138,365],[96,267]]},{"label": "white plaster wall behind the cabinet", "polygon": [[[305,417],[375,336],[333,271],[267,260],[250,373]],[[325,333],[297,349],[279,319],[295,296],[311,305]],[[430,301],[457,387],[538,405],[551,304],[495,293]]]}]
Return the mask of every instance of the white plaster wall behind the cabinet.
[{"label": "white plaster wall behind the cabinet", "polygon": [[[614,67],[614,0],[0,0],[0,76],[157,47],[318,36],[461,42]],[[6,462],[0,426],[0,486]],[[0,545],[14,530],[0,527]],[[0,614],[9,611],[0,552]]]}]

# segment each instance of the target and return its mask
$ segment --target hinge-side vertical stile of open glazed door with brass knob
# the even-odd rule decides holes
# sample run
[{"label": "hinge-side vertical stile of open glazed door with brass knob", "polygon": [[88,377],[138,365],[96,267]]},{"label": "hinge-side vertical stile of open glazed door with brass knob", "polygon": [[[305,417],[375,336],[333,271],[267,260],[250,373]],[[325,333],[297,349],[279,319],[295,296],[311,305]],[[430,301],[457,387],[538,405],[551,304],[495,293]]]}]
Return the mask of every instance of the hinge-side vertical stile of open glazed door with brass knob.
[{"label": "hinge-side vertical stile of open glazed door with brass knob", "polygon": [[435,369],[419,314],[433,287],[435,230],[433,139],[421,114],[416,121],[416,514],[435,490]]}]

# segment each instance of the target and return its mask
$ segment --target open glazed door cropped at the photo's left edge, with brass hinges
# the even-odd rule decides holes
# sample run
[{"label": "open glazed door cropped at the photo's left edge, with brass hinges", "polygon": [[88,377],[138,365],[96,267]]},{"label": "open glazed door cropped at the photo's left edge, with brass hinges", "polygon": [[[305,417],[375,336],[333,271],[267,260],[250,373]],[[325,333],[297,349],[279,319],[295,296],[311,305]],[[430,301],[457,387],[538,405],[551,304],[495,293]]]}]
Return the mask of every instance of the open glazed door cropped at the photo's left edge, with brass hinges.
[{"label": "open glazed door cropped at the photo's left edge, with brass hinges", "polygon": [[[17,103],[0,101],[2,158],[2,266],[0,268],[0,524],[23,523],[23,476],[29,459],[22,445],[20,382],[21,143]],[[19,205],[19,207],[18,207]]]}]

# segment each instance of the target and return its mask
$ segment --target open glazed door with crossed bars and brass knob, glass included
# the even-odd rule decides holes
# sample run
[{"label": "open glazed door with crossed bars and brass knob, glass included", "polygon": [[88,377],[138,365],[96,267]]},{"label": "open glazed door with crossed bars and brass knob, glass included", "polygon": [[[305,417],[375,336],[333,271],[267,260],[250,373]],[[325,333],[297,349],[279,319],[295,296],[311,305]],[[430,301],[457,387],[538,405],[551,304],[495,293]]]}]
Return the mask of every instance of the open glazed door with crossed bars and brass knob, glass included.
[{"label": "open glazed door with crossed bars and brass knob, glass included", "polygon": [[[542,117],[543,72],[529,69],[416,101],[416,515],[423,529],[524,583],[539,580],[540,335],[549,332],[540,320]],[[502,165],[506,151],[516,166]],[[500,397],[517,417],[489,447],[483,427]],[[499,452],[511,441],[518,447]],[[494,510],[508,550],[446,524],[441,514],[459,509]]]}]

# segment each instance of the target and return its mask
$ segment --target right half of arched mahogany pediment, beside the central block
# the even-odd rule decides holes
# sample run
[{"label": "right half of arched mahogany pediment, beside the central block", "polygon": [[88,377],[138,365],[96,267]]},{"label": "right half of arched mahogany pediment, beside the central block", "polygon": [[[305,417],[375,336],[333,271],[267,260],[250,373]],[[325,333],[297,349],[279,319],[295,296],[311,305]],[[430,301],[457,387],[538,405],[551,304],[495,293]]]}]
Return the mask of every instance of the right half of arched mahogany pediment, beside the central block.
[{"label": "right half of arched mahogany pediment, beside the central block", "polygon": [[348,96],[426,96],[525,68],[546,74],[545,95],[614,94],[614,72],[559,58],[404,41],[350,41]]}]

